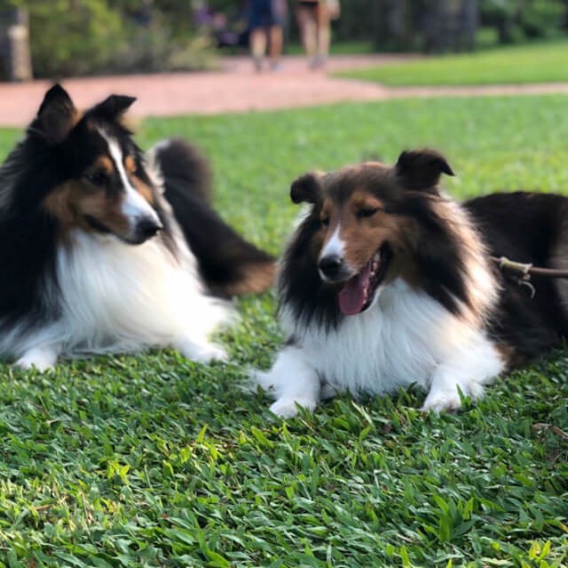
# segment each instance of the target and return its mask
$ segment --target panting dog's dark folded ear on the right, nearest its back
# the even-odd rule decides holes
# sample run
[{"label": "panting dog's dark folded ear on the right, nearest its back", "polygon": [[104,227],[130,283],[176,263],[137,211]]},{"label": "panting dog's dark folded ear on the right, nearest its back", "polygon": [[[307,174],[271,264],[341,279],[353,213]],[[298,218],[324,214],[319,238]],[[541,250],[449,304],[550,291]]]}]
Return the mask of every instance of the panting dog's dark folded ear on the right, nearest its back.
[{"label": "panting dog's dark folded ear on the right, nearest its back", "polygon": [[435,190],[440,176],[454,176],[446,158],[435,150],[413,150],[398,156],[397,177],[407,189]]}]

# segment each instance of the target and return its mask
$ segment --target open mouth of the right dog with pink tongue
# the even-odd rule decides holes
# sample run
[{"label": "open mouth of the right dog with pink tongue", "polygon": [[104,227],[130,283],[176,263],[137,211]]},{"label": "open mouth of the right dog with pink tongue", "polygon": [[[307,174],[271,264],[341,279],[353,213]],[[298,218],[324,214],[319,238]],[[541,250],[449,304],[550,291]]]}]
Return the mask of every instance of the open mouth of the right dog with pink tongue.
[{"label": "open mouth of the right dog with pink tongue", "polygon": [[359,274],[347,280],[339,292],[339,309],[346,316],[364,312],[373,303],[376,289],[387,272],[390,262],[390,247],[383,244]]}]

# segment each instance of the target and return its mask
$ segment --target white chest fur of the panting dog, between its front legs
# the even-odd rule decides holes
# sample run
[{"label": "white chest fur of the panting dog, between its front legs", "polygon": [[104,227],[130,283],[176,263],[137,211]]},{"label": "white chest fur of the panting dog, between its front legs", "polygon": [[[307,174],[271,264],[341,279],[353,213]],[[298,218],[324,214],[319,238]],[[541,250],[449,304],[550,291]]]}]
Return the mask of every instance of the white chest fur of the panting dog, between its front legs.
[{"label": "white chest fur of the panting dog, between its front legs", "polygon": [[426,384],[461,327],[430,296],[398,280],[366,312],[345,317],[328,333],[308,332],[302,343],[326,382],[354,393],[383,393]]}]

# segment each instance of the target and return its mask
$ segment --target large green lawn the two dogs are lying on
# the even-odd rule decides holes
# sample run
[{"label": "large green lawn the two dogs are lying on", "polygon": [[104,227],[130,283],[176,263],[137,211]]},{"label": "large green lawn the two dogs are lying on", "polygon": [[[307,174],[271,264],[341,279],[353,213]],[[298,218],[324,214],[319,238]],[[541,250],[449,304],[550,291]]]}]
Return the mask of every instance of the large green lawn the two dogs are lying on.
[{"label": "large green lawn the two dogs are lying on", "polygon": [[[273,253],[311,168],[436,146],[464,197],[568,193],[563,97],[435,99],[147,120],[193,139],[217,205]],[[0,131],[0,154],[20,136]],[[240,390],[280,342],[271,294],[239,302],[228,364],[171,351],[0,369],[0,566],[568,565],[568,359],[499,380],[461,414],[418,390],[283,422]]]}]

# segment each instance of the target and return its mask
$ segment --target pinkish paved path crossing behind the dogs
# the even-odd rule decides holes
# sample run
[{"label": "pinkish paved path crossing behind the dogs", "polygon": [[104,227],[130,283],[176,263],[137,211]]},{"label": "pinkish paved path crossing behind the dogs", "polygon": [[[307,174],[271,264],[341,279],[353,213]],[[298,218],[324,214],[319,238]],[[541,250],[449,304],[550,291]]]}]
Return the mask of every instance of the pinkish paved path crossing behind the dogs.
[{"label": "pinkish paved path crossing behind the dogs", "polygon": [[[412,56],[335,56],[327,72],[385,65]],[[310,71],[301,57],[287,57],[279,72],[256,73],[248,58],[224,59],[219,71],[69,79],[63,85],[77,106],[90,106],[110,93],[138,97],[132,114],[240,113],[349,100],[497,94],[567,93],[568,83],[480,87],[404,87],[337,79]],[[23,126],[36,113],[50,82],[0,83],[0,126]]]}]

